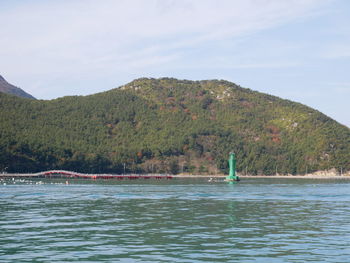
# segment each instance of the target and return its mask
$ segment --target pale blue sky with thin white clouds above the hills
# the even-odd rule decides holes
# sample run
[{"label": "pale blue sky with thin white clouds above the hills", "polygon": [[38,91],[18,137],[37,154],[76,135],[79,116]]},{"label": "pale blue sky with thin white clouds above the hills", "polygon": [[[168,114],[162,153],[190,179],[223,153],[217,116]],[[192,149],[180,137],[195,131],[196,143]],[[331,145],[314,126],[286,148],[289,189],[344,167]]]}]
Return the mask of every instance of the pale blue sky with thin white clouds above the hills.
[{"label": "pale blue sky with thin white clouds above the hills", "polygon": [[38,99],[225,79],[350,127],[348,0],[0,0],[0,75]]}]

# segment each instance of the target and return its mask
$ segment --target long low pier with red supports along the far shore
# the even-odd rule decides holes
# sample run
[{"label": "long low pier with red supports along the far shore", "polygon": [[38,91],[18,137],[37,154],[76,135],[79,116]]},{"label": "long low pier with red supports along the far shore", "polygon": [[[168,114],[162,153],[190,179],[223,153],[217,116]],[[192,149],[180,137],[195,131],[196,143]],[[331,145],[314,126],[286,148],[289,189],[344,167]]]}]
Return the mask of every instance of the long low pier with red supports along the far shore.
[{"label": "long low pier with red supports along the far shore", "polygon": [[0,177],[21,177],[21,178],[81,178],[81,179],[172,179],[171,175],[153,175],[153,174],[83,174],[65,170],[50,170],[38,173],[12,174],[3,173]]}]

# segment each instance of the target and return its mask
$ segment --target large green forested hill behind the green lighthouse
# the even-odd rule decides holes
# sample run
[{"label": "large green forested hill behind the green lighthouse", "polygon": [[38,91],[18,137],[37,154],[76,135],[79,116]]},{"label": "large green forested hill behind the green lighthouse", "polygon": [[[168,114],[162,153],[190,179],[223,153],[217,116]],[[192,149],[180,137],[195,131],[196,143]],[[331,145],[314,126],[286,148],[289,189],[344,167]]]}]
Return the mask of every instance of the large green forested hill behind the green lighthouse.
[{"label": "large green forested hill behind the green lighthouse", "polygon": [[137,79],[50,101],[0,94],[0,171],[249,174],[350,170],[350,129],[222,80]]}]

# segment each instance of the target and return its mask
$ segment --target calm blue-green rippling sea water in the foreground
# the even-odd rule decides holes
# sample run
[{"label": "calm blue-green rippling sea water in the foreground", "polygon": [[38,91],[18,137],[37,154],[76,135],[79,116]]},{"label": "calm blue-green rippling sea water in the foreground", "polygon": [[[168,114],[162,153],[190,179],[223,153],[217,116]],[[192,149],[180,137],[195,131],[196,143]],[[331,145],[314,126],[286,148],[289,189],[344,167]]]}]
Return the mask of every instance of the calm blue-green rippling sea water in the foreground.
[{"label": "calm blue-green rippling sea water in the foreground", "polygon": [[347,180],[64,182],[0,182],[0,262],[349,262]]}]

